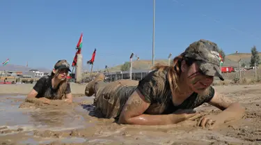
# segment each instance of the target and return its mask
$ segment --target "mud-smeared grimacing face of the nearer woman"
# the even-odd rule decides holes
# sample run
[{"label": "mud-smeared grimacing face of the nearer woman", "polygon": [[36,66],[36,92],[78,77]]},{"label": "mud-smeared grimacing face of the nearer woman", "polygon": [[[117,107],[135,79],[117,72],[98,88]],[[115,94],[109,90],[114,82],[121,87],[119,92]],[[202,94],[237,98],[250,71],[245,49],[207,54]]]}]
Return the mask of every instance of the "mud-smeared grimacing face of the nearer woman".
[{"label": "mud-smeared grimacing face of the nearer woman", "polygon": [[197,63],[184,67],[184,81],[192,91],[202,93],[212,84],[213,77],[203,74]]}]

